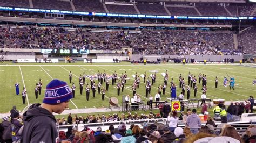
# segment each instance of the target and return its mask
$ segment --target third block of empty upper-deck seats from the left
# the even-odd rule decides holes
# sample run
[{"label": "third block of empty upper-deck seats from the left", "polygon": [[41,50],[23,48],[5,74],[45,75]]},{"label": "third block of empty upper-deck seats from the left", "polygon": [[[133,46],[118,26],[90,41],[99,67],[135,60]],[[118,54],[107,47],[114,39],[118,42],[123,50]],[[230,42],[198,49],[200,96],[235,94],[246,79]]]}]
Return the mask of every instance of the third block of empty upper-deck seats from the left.
[{"label": "third block of empty upper-deck seats from the left", "polygon": [[74,0],[73,4],[77,11],[106,12],[102,3],[91,0]]}]

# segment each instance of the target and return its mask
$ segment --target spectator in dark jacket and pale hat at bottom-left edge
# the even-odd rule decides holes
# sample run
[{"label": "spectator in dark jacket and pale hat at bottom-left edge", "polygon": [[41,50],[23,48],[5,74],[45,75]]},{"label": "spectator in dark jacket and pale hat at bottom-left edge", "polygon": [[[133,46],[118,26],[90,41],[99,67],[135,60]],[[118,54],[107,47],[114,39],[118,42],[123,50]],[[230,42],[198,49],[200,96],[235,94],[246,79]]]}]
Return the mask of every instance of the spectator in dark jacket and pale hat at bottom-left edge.
[{"label": "spectator in dark jacket and pale hat at bottom-left edge", "polygon": [[0,142],[12,142],[11,132],[7,131],[8,128],[11,128],[11,123],[9,121],[9,116],[4,116],[2,123],[0,124]]}]

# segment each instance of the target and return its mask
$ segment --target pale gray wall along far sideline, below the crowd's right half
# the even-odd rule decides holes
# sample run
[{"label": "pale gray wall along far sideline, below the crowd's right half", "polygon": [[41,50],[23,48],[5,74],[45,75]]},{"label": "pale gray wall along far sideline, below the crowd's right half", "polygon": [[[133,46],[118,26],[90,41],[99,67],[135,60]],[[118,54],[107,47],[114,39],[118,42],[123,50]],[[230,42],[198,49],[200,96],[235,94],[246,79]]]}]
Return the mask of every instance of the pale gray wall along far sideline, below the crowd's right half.
[{"label": "pale gray wall along far sideline, below the crowd's right half", "polygon": [[216,61],[221,62],[225,58],[233,58],[234,62],[239,62],[243,59],[242,55],[132,55],[131,60],[133,61],[139,61],[140,58],[143,58],[143,56],[148,57],[148,61],[157,61],[157,58],[186,58],[186,59],[194,59],[195,61],[204,61],[206,59],[207,61]]}]

